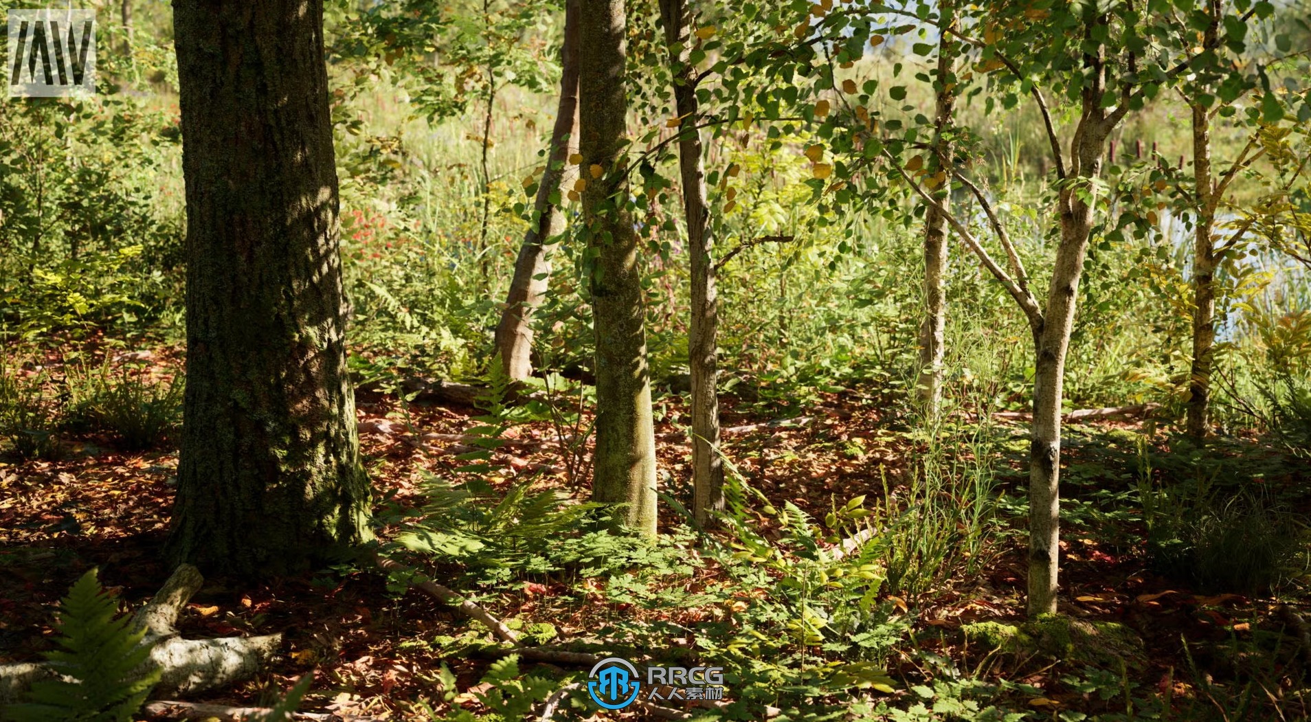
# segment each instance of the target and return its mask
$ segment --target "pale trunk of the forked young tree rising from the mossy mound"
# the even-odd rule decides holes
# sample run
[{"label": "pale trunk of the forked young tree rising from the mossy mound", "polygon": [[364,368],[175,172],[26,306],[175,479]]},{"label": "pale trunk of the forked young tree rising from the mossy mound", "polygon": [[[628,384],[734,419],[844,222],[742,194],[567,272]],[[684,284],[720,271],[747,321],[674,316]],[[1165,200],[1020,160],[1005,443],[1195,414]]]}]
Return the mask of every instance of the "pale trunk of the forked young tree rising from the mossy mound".
[{"label": "pale trunk of the forked young tree rising from the mossy mound", "polygon": [[[1092,97],[1092,93],[1086,93]],[[1057,246],[1042,322],[1033,329],[1037,351],[1033,379],[1033,430],[1029,446],[1029,604],[1030,617],[1057,611],[1061,563],[1061,404],[1065,362],[1074,330],[1075,300],[1083,261],[1092,233],[1093,204],[1080,198],[1091,194],[1091,180],[1101,169],[1101,156],[1110,127],[1096,100],[1084,100],[1084,113],[1075,131],[1074,168],[1057,200],[1061,244]]]}]

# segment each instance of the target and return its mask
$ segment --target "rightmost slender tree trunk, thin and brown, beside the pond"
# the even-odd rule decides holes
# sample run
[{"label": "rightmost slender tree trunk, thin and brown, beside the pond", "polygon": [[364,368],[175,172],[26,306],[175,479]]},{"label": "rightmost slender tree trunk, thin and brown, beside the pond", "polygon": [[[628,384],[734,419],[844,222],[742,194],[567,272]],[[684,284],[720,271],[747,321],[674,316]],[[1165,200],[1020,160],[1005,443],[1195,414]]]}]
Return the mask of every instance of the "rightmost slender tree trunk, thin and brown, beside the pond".
[{"label": "rightmost slender tree trunk, thin and brown, beside the pond", "polygon": [[1197,223],[1193,227],[1193,367],[1189,375],[1186,431],[1206,438],[1211,398],[1211,362],[1215,345],[1215,224],[1211,186],[1211,128],[1206,107],[1193,104],[1193,178]]}]

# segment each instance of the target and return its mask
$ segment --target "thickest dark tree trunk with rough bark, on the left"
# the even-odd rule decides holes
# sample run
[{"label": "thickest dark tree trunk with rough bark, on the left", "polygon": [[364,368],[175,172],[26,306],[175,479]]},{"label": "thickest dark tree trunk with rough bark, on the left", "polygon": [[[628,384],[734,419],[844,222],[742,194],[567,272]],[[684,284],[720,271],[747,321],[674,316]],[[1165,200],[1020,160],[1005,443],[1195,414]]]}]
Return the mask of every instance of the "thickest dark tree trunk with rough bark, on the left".
[{"label": "thickest dark tree trunk with rough bark, on the left", "polygon": [[176,0],[186,400],[168,552],[277,574],[366,533],[323,0]]}]

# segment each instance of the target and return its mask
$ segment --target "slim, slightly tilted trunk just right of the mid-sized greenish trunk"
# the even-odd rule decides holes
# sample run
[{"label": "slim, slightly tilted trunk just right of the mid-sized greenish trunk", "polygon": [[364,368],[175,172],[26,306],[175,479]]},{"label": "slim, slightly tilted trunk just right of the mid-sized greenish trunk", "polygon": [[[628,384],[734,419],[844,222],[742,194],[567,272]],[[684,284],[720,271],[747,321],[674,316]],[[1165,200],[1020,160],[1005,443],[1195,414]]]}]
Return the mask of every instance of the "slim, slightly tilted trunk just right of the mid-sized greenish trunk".
[{"label": "slim, slightly tilted trunk just right of the mid-sized greenish trunk", "polygon": [[683,0],[661,0],[659,14],[670,52],[675,113],[683,119],[678,156],[683,181],[683,212],[687,218],[687,253],[692,266],[692,324],[687,343],[687,363],[692,375],[692,515],[697,524],[705,525],[712,511],[724,508],[724,464],[717,451],[720,400],[716,390],[716,343],[720,309],[714,288],[714,240],[711,237],[705,200],[701,134],[696,128],[700,114],[696,73],[688,63],[691,18]]}]

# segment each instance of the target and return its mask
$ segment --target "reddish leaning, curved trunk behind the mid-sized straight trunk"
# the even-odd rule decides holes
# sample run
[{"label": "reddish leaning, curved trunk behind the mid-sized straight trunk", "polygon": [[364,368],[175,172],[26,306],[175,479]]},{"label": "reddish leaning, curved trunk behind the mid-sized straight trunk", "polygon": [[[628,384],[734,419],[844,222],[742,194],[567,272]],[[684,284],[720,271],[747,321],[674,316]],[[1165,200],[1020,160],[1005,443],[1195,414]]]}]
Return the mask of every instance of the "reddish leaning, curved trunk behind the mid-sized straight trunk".
[{"label": "reddish leaning, curved trunk behind the mid-sized straight trunk", "polygon": [[560,48],[560,104],[556,124],[551,128],[551,151],[547,169],[538,186],[532,219],[523,235],[519,257],[514,262],[514,279],[501,324],[496,329],[496,349],[506,375],[523,380],[532,375],[532,311],[541,304],[551,276],[545,245],[564,231],[560,212],[560,189],[569,160],[569,136],[578,117],[578,4],[565,3],[565,39]]}]

